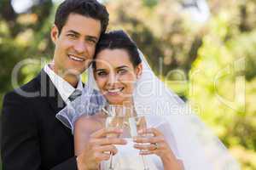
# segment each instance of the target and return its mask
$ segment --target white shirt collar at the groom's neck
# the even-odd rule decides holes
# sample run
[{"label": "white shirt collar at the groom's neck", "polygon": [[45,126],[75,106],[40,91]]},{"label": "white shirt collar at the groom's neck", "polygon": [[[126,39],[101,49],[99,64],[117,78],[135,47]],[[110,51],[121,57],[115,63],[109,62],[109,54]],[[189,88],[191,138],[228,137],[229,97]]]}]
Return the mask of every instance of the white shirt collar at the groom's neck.
[{"label": "white shirt collar at the groom's neck", "polygon": [[58,90],[58,93],[61,95],[61,98],[64,100],[64,102],[67,104],[69,102],[69,96],[73,94],[75,89],[83,90],[83,83],[81,81],[81,78],[79,78],[79,83],[77,88],[73,88],[71,84],[69,84],[67,81],[65,81],[62,77],[57,75],[55,71],[52,71],[49,68],[49,65],[44,66],[44,71],[49,76],[51,82],[55,85],[55,88]]}]

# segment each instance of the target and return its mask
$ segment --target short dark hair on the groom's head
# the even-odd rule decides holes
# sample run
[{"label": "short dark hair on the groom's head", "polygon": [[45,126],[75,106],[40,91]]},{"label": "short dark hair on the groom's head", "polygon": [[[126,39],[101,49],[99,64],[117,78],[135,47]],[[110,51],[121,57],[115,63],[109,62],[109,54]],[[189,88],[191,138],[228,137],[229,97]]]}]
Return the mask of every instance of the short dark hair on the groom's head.
[{"label": "short dark hair on the groom's head", "polygon": [[57,8],[55,14],[55,26],[61,33],[69,14],[81,14],[101,21],[102,33],[108,27],[108,11],[104,5],[96,0],[66,0]]}]

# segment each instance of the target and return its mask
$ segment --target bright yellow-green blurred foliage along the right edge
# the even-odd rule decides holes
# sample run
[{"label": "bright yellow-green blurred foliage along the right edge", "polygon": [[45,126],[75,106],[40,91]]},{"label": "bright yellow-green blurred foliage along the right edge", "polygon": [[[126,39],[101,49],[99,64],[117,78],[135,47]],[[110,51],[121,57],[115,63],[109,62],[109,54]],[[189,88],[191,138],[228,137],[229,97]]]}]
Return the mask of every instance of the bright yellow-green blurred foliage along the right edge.
[{"label": "bright yellow-green blurred foliage along the right edge", "polygon": [[193,89],[188,97],[200,105],[200,116],[242,169],[256,169],[256,2],[214,1],[214,5],[215,14],[189,71]]}]

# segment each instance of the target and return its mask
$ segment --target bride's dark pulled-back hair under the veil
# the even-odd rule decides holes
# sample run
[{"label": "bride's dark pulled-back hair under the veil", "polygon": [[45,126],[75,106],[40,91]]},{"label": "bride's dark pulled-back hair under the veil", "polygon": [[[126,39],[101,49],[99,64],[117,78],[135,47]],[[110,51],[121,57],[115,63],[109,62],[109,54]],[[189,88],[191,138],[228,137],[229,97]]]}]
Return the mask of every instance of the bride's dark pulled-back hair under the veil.
[{"label": "bride's dark pulled-back hair under the veil", "polygon": [[[102,34],[100,41],[96,45],[96,53],[99,54],[104,49],[125,49],[130,56],[131,63],[134,67],[142,62],[139,56],[137,45],[131,40],[131,38],[125,33],[125,31],[109,31]],[[92,68],[96,68],[96,62],[92,62]]]}]

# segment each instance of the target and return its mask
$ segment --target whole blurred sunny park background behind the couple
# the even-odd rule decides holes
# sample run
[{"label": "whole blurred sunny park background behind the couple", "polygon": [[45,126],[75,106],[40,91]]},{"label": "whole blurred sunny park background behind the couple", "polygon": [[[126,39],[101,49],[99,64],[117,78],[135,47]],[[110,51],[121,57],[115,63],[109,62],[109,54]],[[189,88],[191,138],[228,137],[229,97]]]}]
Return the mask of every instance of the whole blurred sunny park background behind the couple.
[{"label": "whole blurred sunny park background behind the couple", "polygon": [[[0,1],[0,111],[3,95],[52,58],[49,31],[60,2]],[[102,3],[109,30],[127,31],[155,74],[196,109],[242,169],[256,169],[256,1]],[[18,83],[12,82],[15,72]]]}]

